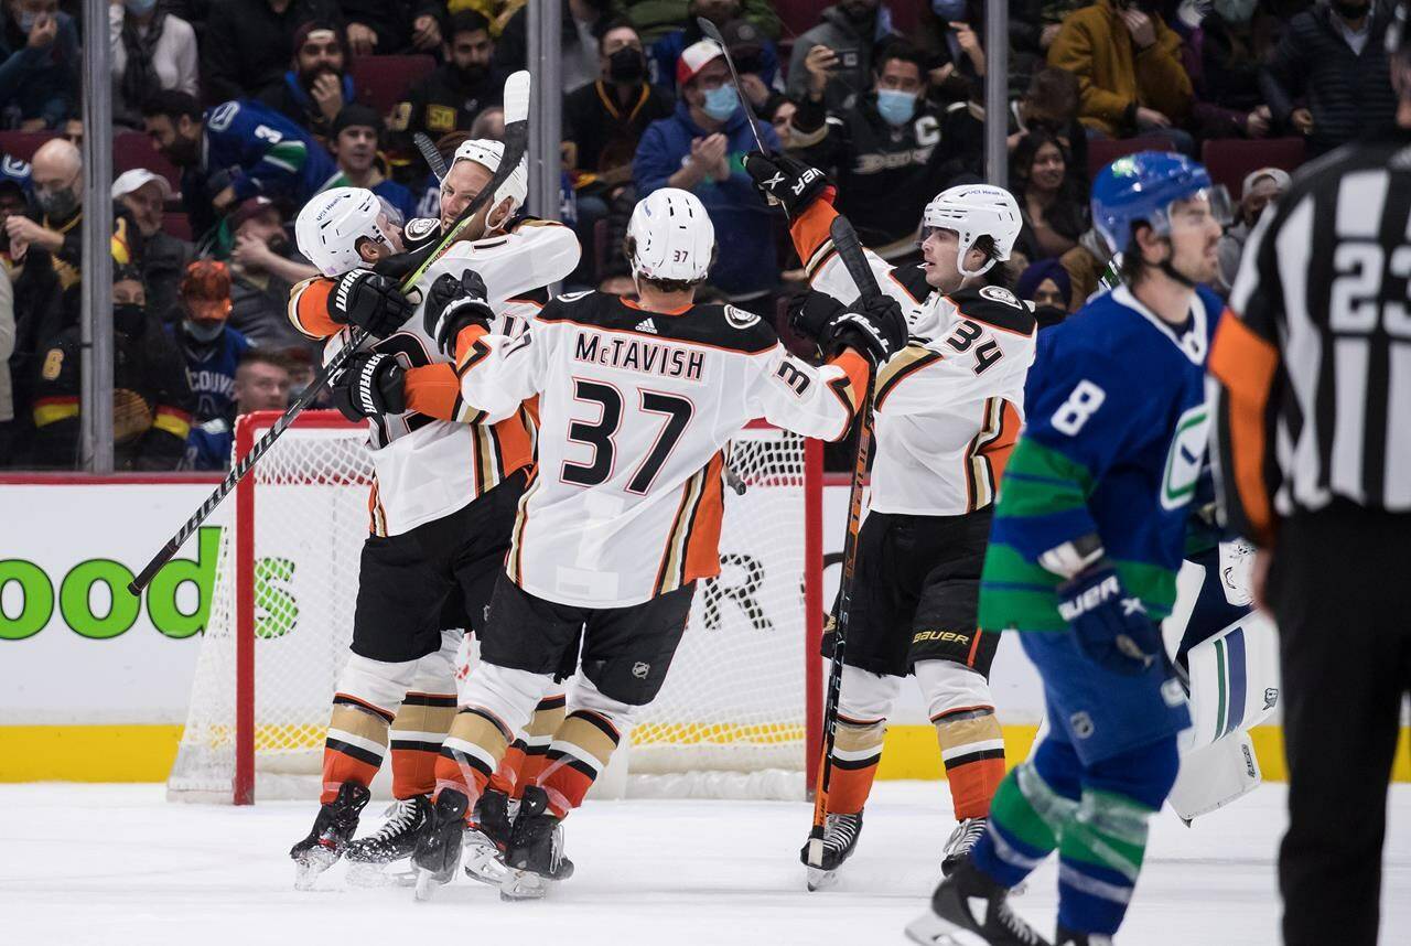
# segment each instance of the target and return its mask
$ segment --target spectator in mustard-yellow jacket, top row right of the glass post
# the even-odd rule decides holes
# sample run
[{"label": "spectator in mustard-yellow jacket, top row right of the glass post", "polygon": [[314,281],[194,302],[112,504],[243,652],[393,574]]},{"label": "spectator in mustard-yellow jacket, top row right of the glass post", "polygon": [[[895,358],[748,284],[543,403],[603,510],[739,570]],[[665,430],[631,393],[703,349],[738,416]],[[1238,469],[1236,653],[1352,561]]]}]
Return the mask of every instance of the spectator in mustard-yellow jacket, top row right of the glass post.
[{"label": "spectator in mustard-yellow jacket, top row right of the glass post", "polygon": [[1181,37],[1151,0],[1095,0],[1068,14],[1048,65],[1078,76],[1078,119],[1089,138],[1163,138],[1194,154],[1194,138],[1180,127],[1194,99]]}]

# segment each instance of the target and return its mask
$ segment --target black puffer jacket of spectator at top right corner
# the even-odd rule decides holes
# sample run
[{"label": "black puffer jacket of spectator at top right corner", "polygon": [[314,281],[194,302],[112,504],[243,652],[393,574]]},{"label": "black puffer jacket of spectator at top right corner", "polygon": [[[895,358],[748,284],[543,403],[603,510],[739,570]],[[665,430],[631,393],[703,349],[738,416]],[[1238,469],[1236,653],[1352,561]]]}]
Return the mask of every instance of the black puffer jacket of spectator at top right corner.
[{"label": "black puffer jacket of spectator at top right corner", "polygon": [[1386,51],[1391,14],[1381,4],[1371,4],[1369,13],[1370,28],[1360,54],[1348,45],[1331,7],[1319,4],[1300,13],[1260,76],[1276,127],[1292,127],[1294,110],[1307,102],[1312,113],[1309,154],[1394,127],[1397,97]]}]

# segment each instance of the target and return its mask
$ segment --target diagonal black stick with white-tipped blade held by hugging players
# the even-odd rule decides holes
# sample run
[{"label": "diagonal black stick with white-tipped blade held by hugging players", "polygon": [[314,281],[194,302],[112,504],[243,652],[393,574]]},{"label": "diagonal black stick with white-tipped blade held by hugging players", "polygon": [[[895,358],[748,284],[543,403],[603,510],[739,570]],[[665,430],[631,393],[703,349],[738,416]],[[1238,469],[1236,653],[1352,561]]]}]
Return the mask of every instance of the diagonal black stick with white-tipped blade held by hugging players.
[{"label": "diagonal black stick with white-tipped blade held by hugging players", "polygon": [[[471,217],[474,217],[476,213],[478,213],[480,209],[490,202],[490,199],[495,195],[495,191],[499,189],[499,185],[509,179],[509,175],[514,174],[515,168],[518,168],[519,162],[523,160],[525,150],[529,145],[529,73],[519,71],[505,79],[504,97],[505,152],[499,161],[499,169],[497,169],[490,182],[481,188],[480,193],[476,195],[476,199],[460,212],[460,216],[456,217],[456,223],[452,224],[452,227],[442,236],[439,243],[418,254],[409,254],[411,258],[408,260],[408,265],[411,265],[411,273],[408,273],[401,282],[401,291],[404,294],[411,292],[412,287],[415,287],[418,280],[426,274],[426,270],[430,268],[432,263],[435,263],[447,249],[450,249],[453,243],[460,239],[460,234],[467,226],[470,226]],[[152,556],[152,561],[147,563],[147,568],[144,568],[143,572],[128,583],[127,590],[131,594],[137,596],[143,593],[143,589],[151,583],[152,577],[157,576],[157,572],[161,570],[161,568],[166,565],[174,555],[176,555],[182,544],[185,544],[185,541],[190,538],[198,528],[200,528],[200,524],[210,517],[216,507],[220,505],[222,500],[230,496],[230,491],[236,489],[236,484],[240,483],[240,480],[243,480],[251,469],[254,469],[255,463],[260,462],[260,457],[262,457],[270,448],[274,446],[274,442],[278,441],[286,429],[289,429],[289,425],[293,424],[295,418],[298,418],[299,414],[302,414],[303,409],[313,402],[319,393],[327,387],[329,381],[333,380],[340,370],[343,370],[343,366],[347,364],[349,359],[353,357],[353,353],[357,352],[363,342],[367,340],[367,336],[368,333],[365,329],[356,329],[350,333],[347,345],[339,349],[337,354],[334,354],[333,359],[330,359],[323,367],[323,371],[320,371],[313,378],[313,383],[309,384],[309,387],[299,395],[299,398],[289,405],[289,409],[285,411],[278,421],[275,421],[274,426],[271,426],[264,436],[255,441],[254,446],[250,448],[250,453],[241,457],[240,463],[237,463],[236,467],[226,474],[226,479],[220,481],[220,486],[217,486],[216,490],[206,497],[206,501],[200,504],[200,508],[196,510],[189,520],[186,520],[186,524],[182,525],[181,529],[178,529],[176,535],[171,537],[166,541],[166,545],[164,545],[162,549]]]}]

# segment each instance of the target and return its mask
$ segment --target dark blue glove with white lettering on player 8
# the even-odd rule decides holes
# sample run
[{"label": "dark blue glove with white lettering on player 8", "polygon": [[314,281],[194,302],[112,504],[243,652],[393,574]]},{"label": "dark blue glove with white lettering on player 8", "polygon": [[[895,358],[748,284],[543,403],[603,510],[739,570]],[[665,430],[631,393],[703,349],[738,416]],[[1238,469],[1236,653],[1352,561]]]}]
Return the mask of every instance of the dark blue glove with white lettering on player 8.
[{"label": "dark blue glove with white lettering on player 8", "polygon": [[1136,676],[1164,657],[1156,621],[1105,561],[1058,586],[1058,614],[1086,658],[1113,673]]}]

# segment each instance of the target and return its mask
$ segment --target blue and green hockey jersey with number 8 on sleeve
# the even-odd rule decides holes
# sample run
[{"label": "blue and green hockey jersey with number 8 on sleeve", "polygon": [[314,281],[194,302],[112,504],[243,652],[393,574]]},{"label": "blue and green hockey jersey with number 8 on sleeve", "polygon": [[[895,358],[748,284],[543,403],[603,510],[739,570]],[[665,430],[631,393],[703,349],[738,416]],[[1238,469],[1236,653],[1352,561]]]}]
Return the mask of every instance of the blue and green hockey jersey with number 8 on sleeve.
[{"label": "blue and green hockey jersey with number 8 on sleeve", "polygon": [[983,628],[1060,631],[1038,556],[1091,532],[1153,618],[1171,613],[1209,429],[1205,356],[1223,302],[1198,289],[1174,328],[1119,287],[1038,335],[1027,425],[995,510]]}]

